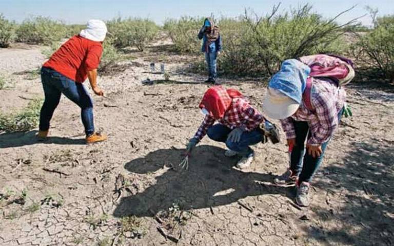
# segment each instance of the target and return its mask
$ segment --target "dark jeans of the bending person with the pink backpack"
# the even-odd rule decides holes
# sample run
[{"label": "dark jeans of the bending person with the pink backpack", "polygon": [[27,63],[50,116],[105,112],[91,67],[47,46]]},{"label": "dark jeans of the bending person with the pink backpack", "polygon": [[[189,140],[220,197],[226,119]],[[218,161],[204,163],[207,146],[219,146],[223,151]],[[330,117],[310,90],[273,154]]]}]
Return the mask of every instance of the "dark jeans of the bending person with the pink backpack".
[{"label": "dark jeans of the bending person with the pink backpack", "polygon": [[[342,118],[343,109],[338,113],[338,124]],[[309,126],[306,121],[293,121],[295,128],[295,146],[291,152],[290,170],[299,176],[299,183],[310,182],[323,161],[324,153],[331,138],[322,144],[322,154],[313,158],[305,151],[305,140],[310,138]]]}]

